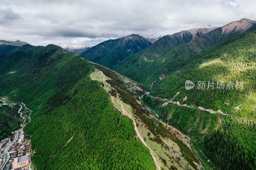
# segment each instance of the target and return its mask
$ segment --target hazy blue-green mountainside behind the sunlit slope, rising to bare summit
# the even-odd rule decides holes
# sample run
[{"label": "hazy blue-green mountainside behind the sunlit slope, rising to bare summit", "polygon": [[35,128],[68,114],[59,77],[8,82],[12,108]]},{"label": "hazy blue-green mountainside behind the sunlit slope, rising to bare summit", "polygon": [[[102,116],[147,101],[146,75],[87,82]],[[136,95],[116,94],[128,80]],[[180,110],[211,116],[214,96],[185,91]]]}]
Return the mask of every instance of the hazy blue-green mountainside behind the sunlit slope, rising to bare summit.
[{"label": "hazy blue-green mountainside behind the sunlit slope, rising to bare summit", "polygon": [[[176,70],[177,67],[187,63],[191,57],[199,54],[204,49],[212,47],[228,38],[255,29],[255,27],[255,21],[241,19],[216,28],[205,35],[202,34],[201,37],[193,40],[191,39],[192,34],[187,34],[186,37],[190,35],[188,39],[184,39],[184,35],[181,39],[180,34],[176,33],[173,36],[177,35],[180,40],[187,41],[178,41],[179,43],[174,43],[175,46],[170,46],[169,44],[172,41],[165,40],[167,37],[164,36],[143,51],[125,58],[112,69],[139,83],[143,83],[143,85],[151,86],[155,82],[161,81],[170,72]],[[177,39],[176,37],[174,40],[176,41]]]}]

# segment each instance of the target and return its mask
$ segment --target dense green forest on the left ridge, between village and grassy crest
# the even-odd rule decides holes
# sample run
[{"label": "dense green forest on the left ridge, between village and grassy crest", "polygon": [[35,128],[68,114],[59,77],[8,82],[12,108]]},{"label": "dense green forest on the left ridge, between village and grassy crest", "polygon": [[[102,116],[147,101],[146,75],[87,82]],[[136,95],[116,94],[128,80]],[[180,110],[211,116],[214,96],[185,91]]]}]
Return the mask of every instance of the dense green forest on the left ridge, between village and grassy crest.
[{"label": "dense green forest on the left ridge, between village and grassy crest", "polygon": [[32,110],[24,128],[37,169],[156,169],[134,138],[131,120],[113,108],[93,66],[54,45],[24,45],[0,55],[6,99]]}]

